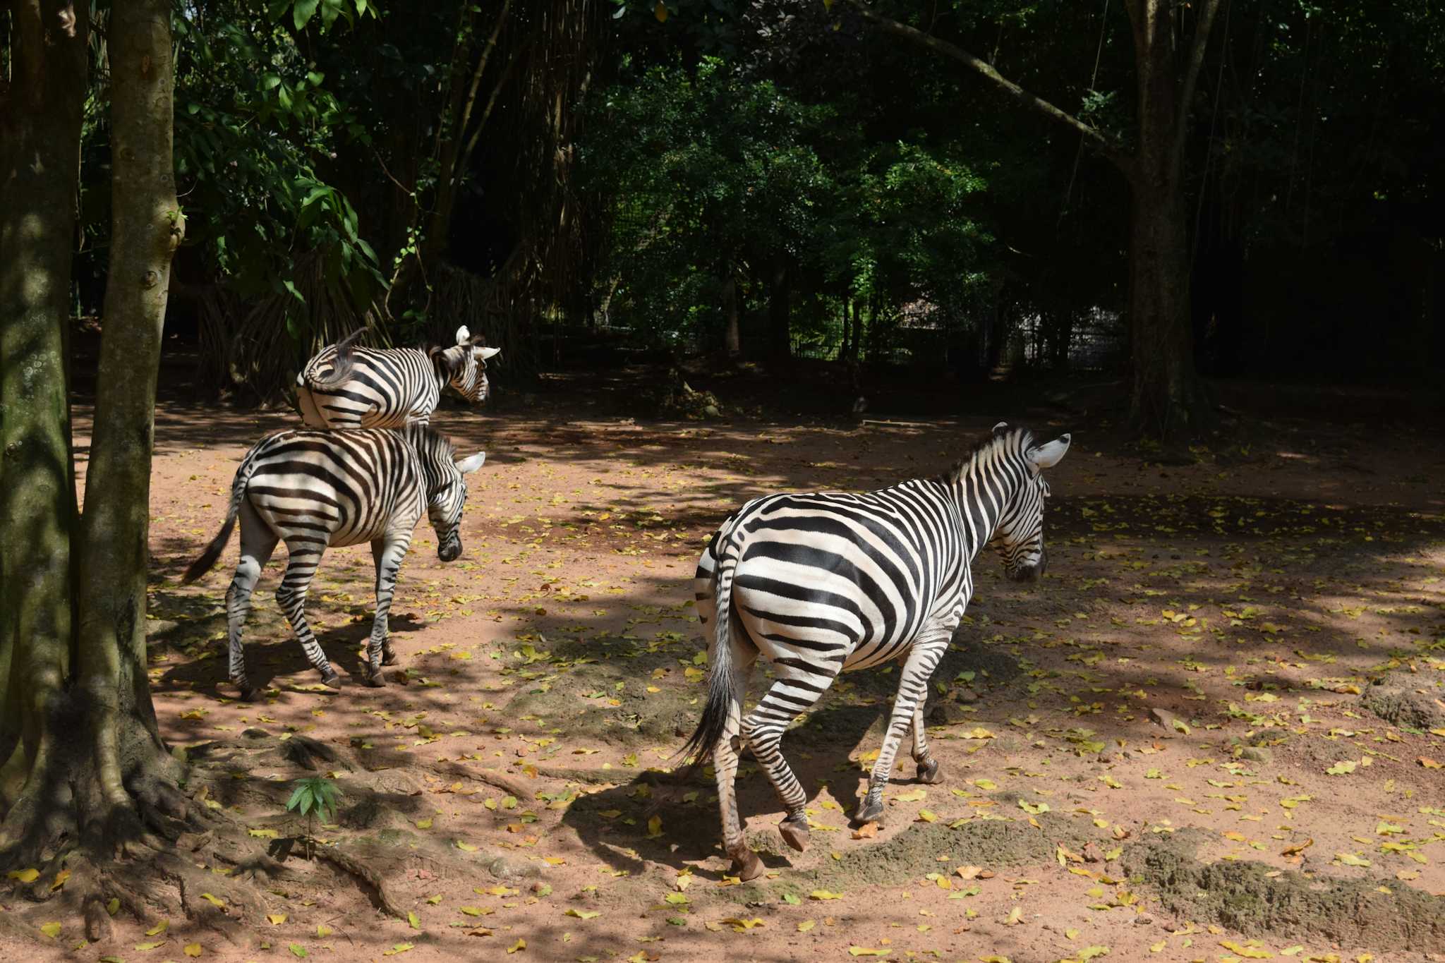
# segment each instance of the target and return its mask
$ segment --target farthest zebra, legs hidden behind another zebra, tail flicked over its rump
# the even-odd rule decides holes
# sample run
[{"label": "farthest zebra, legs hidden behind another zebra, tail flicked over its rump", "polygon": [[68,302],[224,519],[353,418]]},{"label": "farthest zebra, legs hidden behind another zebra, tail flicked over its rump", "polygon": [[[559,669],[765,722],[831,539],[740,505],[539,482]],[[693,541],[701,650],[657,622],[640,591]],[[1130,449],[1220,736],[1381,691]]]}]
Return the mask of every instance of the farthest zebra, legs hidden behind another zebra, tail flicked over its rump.
[{"label": "farthest zebra, legs hidden behind another zebra, tail flicked over its rump", "polygon": [[321,349],[296,375],[301,419],[311,427],[426,424],[448,384],[473,403],[486,401],[487,358],[465,326],[452,348],[357,348],[358,329]]}]

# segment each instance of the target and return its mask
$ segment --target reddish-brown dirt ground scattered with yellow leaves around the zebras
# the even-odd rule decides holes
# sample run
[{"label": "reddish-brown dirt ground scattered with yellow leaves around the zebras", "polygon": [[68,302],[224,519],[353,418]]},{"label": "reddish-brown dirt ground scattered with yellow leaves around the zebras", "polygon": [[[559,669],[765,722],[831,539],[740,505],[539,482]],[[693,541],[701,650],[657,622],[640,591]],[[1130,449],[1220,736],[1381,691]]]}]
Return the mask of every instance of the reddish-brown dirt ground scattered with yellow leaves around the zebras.
[{"label": "reddish-brown dirt ground scattered with yellow leaves around the zebras", "polygon": [[[1051,569],[975,562],[977,595],[929,700],[944,781],[906,759],[873,839],[847,816],[894,668],[850,674],[783,742],[812,845],[744,764],[769,873],[727,876],[715,791],[670,772],[705,671],[696,553],[744,500],[877,488],[945,468],[1007,419],[1074,433],[1051,475]],[[1064,411],[977,417],[634,422],[548,396],[441,413],[484,449],[462,559],[419,528],[392,618],[400,680],[355,684],[367,549],[329,552],[312,625],[344,687],[318,686],[272,591],[224,680],[215,533],[231,476],[288,414],[163,406],[152,489],[152,689],[189,787],[286,858],[266,905],[78,918],[0,891],[20,959],[293,960],[1445,960],[1445,449],[1380,424],[1274,420],[1159,465]],[[77,443],[88,424],[81,413]],[[1247,439],[1247,440],[1246,440]],[[754,680],[754,694],[759,684]],[[308,768],[315,767],[315,768]],[[290,781],[342,800],[316,829],[381,897],[290,840]],[[217,868],[221,869],[221,868]],[[214,902],[212,901],[212,905]],[[158,928],[162,924],[166,928]],[[509,957],[507,954],[513,954]]]}]

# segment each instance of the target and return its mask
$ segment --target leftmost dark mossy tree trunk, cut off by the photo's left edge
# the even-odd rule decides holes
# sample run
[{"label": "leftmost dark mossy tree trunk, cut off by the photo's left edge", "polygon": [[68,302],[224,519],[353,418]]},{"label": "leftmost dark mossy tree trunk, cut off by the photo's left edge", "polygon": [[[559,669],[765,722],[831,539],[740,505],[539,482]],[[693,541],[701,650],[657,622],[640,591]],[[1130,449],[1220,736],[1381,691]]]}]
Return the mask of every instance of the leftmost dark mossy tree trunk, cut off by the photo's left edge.
[{"label": "leftmost dark mossy tree trunk, cut off by the photo's left edge", "polygon": [[65,365],[85,101],[87,17],[10,4],[0,90],[0,813],[53,748],[42,725],[71,670]]}]

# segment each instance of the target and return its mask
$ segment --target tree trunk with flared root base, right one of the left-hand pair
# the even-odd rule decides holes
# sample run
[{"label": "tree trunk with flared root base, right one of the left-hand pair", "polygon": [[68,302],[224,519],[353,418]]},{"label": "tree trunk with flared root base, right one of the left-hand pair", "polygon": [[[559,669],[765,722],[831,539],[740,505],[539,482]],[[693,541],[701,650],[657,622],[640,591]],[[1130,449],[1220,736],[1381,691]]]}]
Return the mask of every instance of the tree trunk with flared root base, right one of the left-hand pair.
[{"label": "tree trunk with flared root base, right one of the left-hand pair", "polygon": [[[75,849],[94,863],[158,845],[150,829],[173,839],[185,827],[173,819],[186,806],[173,788],[178,767],[156,731],[144,640],[156,372],[171,257],[182,232],[171,153],[171,1],[117,4],[108,45],[111,263],[79,570],[59,585],[66,609],[71,598],[78,601],[79,618],[16,638],[16,661],[42,655],[52,664],[62,651],[71,658],[68,671],[42,676],[22,710],[26,748],[33,744],[35,751],[26,754],[23,788],[0,823],[0,863],[10,865],[53,853],[55,868]],[[64,313],[51,325],[62,321]],[[36,475],[53,484],[66,465],[68,450],[52,453]],[[46,505],[36,517],[65,524],[74,502]],[[14,543],[13,531],[7,524],[6,544]],[[32,567],[48,556],[33,543],[26,549]],[[26,603],[39,598],[32,585],[20,588]],[[16,683],[14,664],[9,681]],[[108,915],[100,889],[81,886],[87,931],[95,938],[108,928]]]}]

